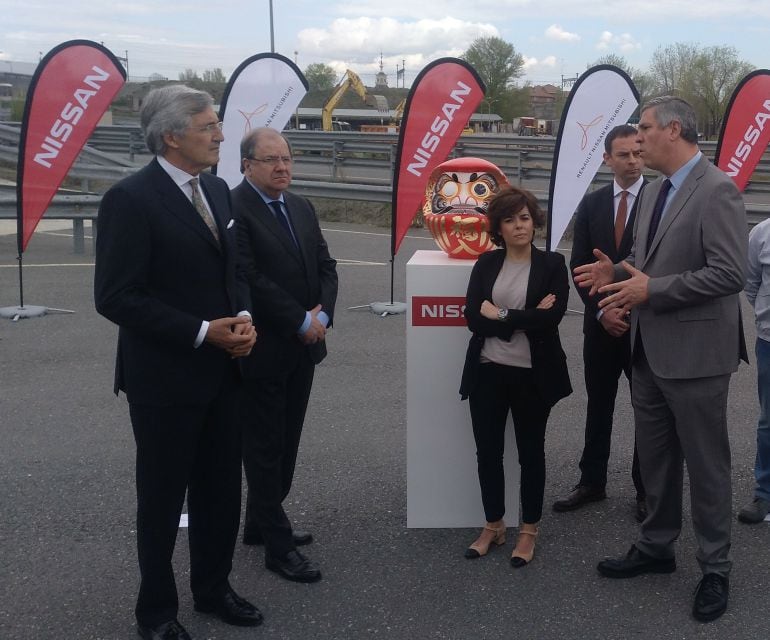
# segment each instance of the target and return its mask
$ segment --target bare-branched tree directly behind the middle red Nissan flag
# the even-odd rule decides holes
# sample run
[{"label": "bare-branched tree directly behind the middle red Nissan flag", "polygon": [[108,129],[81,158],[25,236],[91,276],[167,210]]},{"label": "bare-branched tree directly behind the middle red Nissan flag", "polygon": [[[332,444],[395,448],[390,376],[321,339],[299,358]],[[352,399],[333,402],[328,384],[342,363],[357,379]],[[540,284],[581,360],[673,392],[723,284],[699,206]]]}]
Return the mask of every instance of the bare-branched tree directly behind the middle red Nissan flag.
[{"label": "bare-branched tree directly behind the middle red Nissan flag", "polygon": [[479,74],[487,87],[485,101],[502,104],[514,80],[524,74],[524,57],[513,45],[497,37],[476,38],[462,59]]}]

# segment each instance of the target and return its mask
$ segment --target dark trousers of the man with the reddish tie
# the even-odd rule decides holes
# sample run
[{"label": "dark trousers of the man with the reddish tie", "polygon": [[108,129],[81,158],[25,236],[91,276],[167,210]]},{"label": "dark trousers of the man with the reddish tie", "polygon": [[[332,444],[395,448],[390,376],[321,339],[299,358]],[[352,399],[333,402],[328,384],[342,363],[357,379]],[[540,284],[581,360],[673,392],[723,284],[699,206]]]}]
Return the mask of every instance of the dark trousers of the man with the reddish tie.
[{"label": "dark trousers of the man with the reddish tie", "polygon": [[[607,484],[607,463],[610,459],[612,417],[618,381],[622,374],[631,381],[631,346],[628,332],[614,338],[606,331],[587,333],[583,340],[585,365],[586,408],[585,444],[580,458],[580,484],[603,489]],[[639,456],[634,442],[631,478],[636,497],[645,497]]]}]

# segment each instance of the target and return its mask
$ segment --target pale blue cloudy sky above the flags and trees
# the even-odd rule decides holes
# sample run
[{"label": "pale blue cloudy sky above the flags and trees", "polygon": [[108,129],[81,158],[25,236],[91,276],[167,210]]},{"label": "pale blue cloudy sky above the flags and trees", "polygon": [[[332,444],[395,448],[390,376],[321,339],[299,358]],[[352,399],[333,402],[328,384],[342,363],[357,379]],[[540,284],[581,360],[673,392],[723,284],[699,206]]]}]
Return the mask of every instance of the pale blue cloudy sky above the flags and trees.
[{"label": "pale blue cloudy sky above the flags and trees", "polygon": [[[0,0],[0,70],[36,62],[66,40],[127,52],[132,78],[219,67],[270,51],[269,0]],[[615,53],[646,68],[659,45],[731,45],[770,67],[770,2],[764,0],[273,0],[275,50],[301,69],[313,62],[357,71],[374,84],[380,54],[395,86],[429,61],[459,56],[498,36],[526,60],[536,84],[574,77]]]}]

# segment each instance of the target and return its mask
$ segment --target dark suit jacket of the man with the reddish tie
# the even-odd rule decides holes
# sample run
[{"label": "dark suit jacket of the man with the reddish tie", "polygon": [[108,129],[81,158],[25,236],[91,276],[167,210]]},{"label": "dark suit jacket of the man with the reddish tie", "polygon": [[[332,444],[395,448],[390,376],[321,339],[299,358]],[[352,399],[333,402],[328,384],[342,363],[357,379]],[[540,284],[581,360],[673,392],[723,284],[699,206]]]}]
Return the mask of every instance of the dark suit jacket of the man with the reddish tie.
[{"label": "dark suit jacket of the man with the reddish tie", "polygon": [[[596,191],[592,191],[583,196],[575,213],[575,225],[572,239],[572,257],[570,258],[570,272],[575,267],[584,264],[596,262],[593,255],[594,249],[599,249],[612,260],[613,264],[625,259],[634,244],[634,219],[636,218],[636,209],[639,204],[639,196],[642,194],[645,179],[642,182],[642,188],[639,190],[634,206],[628,214],[626,230],[623,232],[623,239],[620,241],[620,248],[615,248],[615,193],[614,183],[604,185]],[[583,333],[592,333],[604,331],[601,323],[596,319],[599,312],[599,300],[601,296],[589,296],[588,289],[575,287],[586,306],[583,316]]]}]

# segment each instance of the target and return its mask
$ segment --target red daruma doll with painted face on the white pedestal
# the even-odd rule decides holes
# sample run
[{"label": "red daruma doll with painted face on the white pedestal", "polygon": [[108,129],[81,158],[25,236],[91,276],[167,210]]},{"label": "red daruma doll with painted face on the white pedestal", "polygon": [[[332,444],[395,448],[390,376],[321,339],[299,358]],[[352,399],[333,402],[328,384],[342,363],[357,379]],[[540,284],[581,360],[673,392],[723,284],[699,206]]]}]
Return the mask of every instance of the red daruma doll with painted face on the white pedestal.
[{"label": "red daruma doll with painted face on the white pedestal", "polygon": [[423,218],[450,258],[474,260],[495,248],[487,205],[508,184],[503,172],[481,158],[455,158],[438,165],[425,187]]}]

